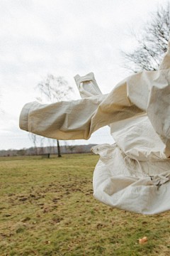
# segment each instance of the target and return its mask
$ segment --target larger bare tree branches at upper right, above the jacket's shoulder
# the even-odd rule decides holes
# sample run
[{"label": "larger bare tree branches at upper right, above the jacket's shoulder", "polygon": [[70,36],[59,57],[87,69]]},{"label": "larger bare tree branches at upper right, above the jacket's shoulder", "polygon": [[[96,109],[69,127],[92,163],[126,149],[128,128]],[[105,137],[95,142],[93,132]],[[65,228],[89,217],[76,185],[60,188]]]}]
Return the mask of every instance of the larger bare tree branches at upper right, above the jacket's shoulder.
[{"label": "larger bare tree branches at upper right, above the jacket's shoulder", "polygon": [[149,21],[140,33],[130,33],[137,48],[127,53],[121,51],[125,59],[124,68],[137,73],[143,69],[157,70],[168,48],[170,36],[170,4],[159,6],[150,14]]}]

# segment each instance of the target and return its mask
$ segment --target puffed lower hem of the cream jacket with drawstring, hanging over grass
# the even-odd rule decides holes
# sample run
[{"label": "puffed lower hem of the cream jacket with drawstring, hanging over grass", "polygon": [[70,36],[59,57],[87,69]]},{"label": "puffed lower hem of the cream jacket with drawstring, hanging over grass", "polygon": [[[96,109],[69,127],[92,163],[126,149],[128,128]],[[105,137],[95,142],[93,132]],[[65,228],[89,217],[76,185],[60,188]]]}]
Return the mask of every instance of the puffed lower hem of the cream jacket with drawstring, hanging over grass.
[{"label": "puffed lower hem of the cream jacket with drawstring, hanging over grass", "polygon": [[140,161],[142,169],[149,174],[145,176],[137,161],[129,158],[124,163],[125,154],[116,144],[92,149],[100,155],[93,180],[94,197],[98,201],[145,215],[169,210],[169,161]]}]

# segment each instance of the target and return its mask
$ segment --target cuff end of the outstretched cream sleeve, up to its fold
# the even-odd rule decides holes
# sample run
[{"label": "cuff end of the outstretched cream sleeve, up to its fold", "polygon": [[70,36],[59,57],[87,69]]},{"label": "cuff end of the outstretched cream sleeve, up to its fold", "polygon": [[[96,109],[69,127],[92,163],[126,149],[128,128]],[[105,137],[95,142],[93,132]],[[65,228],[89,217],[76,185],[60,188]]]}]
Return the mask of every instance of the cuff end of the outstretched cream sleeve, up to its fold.
[{"label": "cuff end of the outstretched cream sleeve, up to its fold", "polygon": [[50,105],[30,102],[21,111],[20,128],[53,139],[88,139],[91,118],[104,97]]}]

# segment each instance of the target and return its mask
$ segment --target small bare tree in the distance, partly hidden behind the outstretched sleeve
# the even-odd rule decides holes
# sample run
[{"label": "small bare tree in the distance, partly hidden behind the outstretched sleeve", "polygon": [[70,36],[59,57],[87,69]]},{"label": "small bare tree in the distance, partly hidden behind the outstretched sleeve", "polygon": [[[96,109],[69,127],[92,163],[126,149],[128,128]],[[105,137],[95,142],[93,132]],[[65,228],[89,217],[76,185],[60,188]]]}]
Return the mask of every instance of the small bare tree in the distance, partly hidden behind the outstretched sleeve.
[{"label": "small bare tree in the distance, partly hidden behind the outstretched sleeve", "polygon": [[[38,98],[40,102],[43,102],[43,98],[50,103],[60,102],[62,100],[70,100],[73,92],[72,87],[68,85],[68,82],[63,77],[55,77],[54,75],[47,75],[47,78],[42,80],[38,84],[38,90],[41,92],[41,97]],[[61,157],[60,142],[57,139],[57,151],[58,157]]]}]

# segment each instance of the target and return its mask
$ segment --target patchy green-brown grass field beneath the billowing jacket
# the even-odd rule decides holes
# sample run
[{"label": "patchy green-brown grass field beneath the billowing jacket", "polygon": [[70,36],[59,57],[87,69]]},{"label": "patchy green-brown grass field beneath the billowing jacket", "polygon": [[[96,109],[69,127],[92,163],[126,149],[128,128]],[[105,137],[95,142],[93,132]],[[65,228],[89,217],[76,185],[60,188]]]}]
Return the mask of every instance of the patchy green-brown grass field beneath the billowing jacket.
[{"label": "patchy green-brown grass field beneath the billowing jacket", "polygon": [[0,255],[170,255],[170,212],[144,216],[96,201],[97,161],[0,158]]}]

